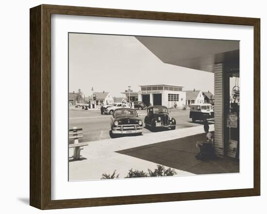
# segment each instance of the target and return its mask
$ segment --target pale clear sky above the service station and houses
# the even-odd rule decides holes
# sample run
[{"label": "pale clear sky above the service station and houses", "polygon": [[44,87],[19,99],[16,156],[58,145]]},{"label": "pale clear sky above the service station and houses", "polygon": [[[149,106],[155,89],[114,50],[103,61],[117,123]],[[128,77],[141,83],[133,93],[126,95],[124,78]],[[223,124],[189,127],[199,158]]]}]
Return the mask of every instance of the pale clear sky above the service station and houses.
[{"label": "pale clear sky above the service station and houses", "polygon": [[69,92],[121,94],[128,86],[171,84],[214,93],[214,74],[159,60],[134,36],[69,34]]}]

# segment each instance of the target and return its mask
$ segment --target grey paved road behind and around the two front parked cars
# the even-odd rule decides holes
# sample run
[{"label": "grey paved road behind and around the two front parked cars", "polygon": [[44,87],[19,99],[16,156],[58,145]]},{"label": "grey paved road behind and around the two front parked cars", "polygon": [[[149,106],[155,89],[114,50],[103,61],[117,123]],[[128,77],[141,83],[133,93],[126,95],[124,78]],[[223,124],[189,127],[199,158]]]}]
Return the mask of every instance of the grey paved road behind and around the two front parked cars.
[{"label": "grey paved road behind and around the two front parked cars", "polygon": [[[144,122],[146,110],[137,110],[137,113]],[[189,111],[171,109],[170,116],[176,120],[176,129],[202,125],[201,122],[191,122]],[[101,115],[99,109],[69,108],[69,128],[83,128],[81,142],[109,139],[110,118],[110,115]],[[212,120],[209,122],[210,124],[214,123]],[[150,133],[150,130],[144,128],[143,134],[146,133]],[[73,140],[69,140],[69,143],[73,143]]]}]

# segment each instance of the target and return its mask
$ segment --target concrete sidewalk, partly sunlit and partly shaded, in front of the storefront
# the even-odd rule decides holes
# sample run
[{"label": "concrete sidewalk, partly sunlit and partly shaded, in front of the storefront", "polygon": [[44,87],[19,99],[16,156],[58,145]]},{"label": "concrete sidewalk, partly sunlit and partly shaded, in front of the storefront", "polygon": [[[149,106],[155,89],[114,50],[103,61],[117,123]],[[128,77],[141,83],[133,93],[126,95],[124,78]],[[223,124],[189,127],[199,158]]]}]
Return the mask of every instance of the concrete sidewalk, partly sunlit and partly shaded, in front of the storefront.
[{"label": "concrete sidewalk, partly sunlit and partly shaded, in front of the storefront", "polygon": [[[214,125],[210,125],[210,131]],[[239,171],[238,161],[196,160],[198,140],[204,140],[202,126],[89,142],[81,151],[82,160],[69,162],[69,180],[100,179],[114,170],[124,178],[129,169],[154,169],[156,165],[174,168],[177,176]],[[72,155],[73,152],[69,151]]]}]

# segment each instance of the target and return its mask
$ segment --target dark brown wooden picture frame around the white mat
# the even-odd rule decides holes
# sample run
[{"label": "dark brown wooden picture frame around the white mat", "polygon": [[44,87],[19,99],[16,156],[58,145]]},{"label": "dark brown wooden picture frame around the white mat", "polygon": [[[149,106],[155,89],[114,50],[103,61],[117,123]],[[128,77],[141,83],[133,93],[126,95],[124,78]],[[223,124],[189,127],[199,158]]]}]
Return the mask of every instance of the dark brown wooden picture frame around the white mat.
[{"label": "dark brown wooden picture frame around the white mat", "polygon": [[[250,189],[51,200],[51,15],[86,15],[254,28],[254,186]],[[216,199],[260,195],[260,19],[59,5],[30,9],[30,205],[39,209]]]}]

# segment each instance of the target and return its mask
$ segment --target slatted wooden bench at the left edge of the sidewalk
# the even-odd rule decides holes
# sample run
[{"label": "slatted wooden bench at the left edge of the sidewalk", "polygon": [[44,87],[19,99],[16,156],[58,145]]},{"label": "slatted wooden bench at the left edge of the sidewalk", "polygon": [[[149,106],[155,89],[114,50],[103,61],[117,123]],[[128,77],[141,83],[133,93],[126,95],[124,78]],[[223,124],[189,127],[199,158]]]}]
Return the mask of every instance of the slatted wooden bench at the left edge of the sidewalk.
[{"label": "slatted wooden bench at the left edge of the sidewalk", "polygon": [[68,139],[74,139],[73,144],[69,144],[68,148],[74,148],[73,160],[80,159],[80,152],[83,150],[83,146],[88,146],[88,143],[79,143],[79,138],[83,138],[83,129],[73,127],[68,130]]}]

